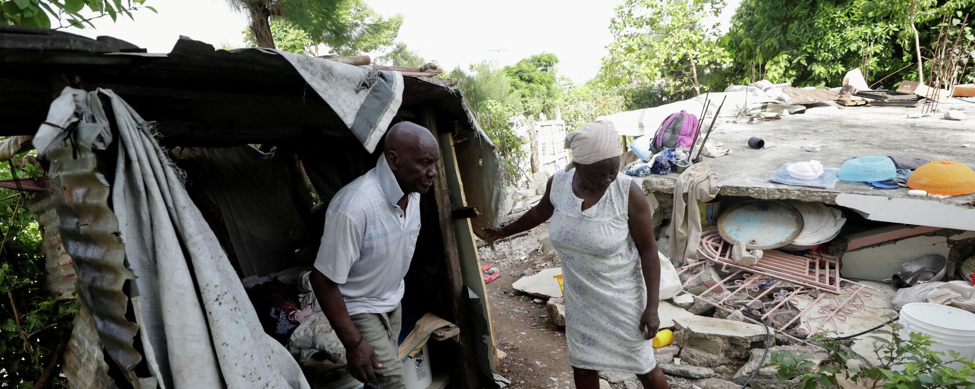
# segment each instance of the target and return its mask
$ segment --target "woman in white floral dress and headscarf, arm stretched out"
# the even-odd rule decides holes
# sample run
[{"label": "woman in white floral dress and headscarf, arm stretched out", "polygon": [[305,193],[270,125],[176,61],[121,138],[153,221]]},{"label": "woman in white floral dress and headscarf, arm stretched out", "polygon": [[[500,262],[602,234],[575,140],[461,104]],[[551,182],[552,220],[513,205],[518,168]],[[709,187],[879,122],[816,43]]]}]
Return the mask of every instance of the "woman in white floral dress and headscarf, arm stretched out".
[{"label": "woman in white floral dress and headscarf, arm stretched out", "polygon": [[563,260],[565,338],[576,388],[599,388],[599,371],[637,374],[644,388],[668,387],[649,339],[657,316],[660,263],[643,190],[618,172],[619,136],[598,120],[569,133],[573,164],[549,178],[542,200],[491,239],[551,218]]}]

